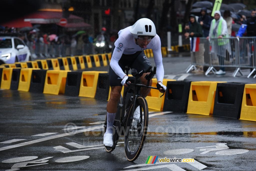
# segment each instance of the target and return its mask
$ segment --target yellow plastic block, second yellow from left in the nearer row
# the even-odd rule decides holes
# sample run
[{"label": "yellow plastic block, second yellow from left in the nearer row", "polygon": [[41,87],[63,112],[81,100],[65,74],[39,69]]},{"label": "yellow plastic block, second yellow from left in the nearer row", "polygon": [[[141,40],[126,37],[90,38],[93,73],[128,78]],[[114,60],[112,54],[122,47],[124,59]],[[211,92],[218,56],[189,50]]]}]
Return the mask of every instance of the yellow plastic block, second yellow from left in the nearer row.
[{"label": "yellow plastic block, second yellow from left in the nearer row", "polygon": [[20,76],[19,76],[19,91],[29,91],[30,87],[30,81],[31,81],[31,75],[33,70],[37,70],[39,68],[22,68],[20,70]]}]

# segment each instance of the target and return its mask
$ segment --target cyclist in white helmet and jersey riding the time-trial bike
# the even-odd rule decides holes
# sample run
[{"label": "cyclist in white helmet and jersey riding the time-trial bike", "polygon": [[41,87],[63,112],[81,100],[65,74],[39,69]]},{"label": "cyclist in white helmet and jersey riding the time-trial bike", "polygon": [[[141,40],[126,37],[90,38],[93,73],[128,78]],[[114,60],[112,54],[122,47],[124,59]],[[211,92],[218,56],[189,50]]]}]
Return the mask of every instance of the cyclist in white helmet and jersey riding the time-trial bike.
[{"label": "cyclist in white helmet and jersey riding the time-trial bike", "polygon": [[[113,146],[113,123],[117,110],[117,104],[121,96],[122,86],[127,87],[128,76],[124,73],[125,66],[134,68],[140,73],[151,64],[144,54],[145,49],[152,49],[156,65],[157,87],[164,93],[166,86],[162,84],[164,78],[164,67],[162,63],[161,41],[156,34],[154,23],[148,18],[139,19],[134,25],[126,27],[118,32],[118,39],[112,48],[112,58],[109,67],[109,80],[111,86],[110,99],[107,104],[107,128],[103,137],[103,144],[107,147]],[[146,85],[144,73],[140,79]],[[131,82],[129,82],[131,83]],[[150,86],[152,80],[150,81]],[[146,97],[149,88],[141,89],[141,95]],[[138,109],[136,109],[138,111]],[[134,119],[136,112],[134,112]],[[140,114],[137,112],[137,115]],[[137,116],[137,117],[138,117]],[[138,119],[138,118],[137,118]]]}]

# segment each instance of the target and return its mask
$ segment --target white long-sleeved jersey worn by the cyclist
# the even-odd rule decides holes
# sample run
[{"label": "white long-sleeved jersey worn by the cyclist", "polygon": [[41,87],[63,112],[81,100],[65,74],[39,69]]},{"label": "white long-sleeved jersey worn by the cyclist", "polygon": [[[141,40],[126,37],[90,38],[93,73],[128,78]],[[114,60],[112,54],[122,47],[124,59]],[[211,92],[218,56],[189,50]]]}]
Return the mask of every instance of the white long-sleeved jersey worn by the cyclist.
[{"label": "white long-sleeved jersey worn by the cyclist", "polygon": [[118,64],[122,54],[130,55],[138,51],[144,51],[145,49],[152,49],[156,65],[156,79],[157,81],[163,82],[164,67],[162,62],[160,37],[156,35],[146,48],[141,48],[136,44],[134,37],[130,32],[130,27],[131,26],[126,27],[118,32],[118,39],[115,41],[115,49],[110,61],[110,67],[113,69],[116,75],[123,78],[126,74],[122,71]]}]

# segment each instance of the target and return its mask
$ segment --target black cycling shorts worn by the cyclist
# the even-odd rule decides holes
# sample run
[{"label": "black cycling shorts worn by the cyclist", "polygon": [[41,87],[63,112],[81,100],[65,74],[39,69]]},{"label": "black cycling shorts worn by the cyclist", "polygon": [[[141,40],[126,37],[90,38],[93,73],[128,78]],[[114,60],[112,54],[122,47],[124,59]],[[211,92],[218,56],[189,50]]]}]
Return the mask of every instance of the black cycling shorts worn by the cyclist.
[{"label": "black cycling shorts worn by the cyclist", "polygon": [[[112,48],[112,54],[114,51],[115,46]],[[138,51],[131,55],[123,54],[121,59],[118,62],[119,66],[122,68],[123,72],[125,72],[125,66],[130,67],[131,69],[136,69],[138,72],[142,71],[143,69],[148,69],[151,65],[148,58],[146,57],[144,51]],[[120,78],[116,73],[113,71],[111,66],[109,66],[109,83],[110,86],[123,86],[121,84],[123,78]]]}]

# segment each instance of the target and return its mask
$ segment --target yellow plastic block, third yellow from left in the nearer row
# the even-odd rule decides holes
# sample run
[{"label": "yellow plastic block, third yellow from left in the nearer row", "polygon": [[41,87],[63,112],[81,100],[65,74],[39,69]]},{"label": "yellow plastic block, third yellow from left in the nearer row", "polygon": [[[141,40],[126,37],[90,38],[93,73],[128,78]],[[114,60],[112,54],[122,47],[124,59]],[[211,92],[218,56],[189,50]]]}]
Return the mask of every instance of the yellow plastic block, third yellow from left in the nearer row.
[{"label": "yellow plastic block, third yellow from left in the nearer row", "polygon": [[67,75],[70,71],[48,70],[46,72],[44,94],[64,94]]}]

